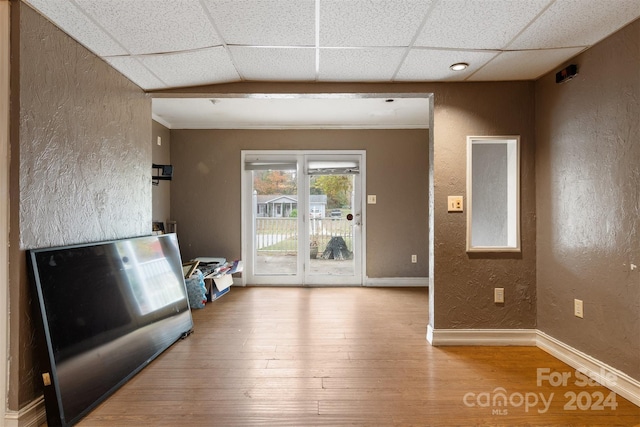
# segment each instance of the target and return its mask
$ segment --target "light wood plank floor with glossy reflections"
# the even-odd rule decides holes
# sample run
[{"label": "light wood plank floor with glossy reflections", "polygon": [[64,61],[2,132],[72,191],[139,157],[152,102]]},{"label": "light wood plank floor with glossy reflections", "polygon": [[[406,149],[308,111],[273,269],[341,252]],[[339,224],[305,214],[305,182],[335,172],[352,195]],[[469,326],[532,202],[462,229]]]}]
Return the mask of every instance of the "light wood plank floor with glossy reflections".
[{"label": "light wood plank floor with glossy reflections", "polygon": [[[565,408],[572,392],[585,407],[609,390],[573,385],[575,370],[535,347],[430,346],[427,306],[424,288],[232,288],[78,425],[640,423],[619,396],[615,410]],[[538,386],[538,368],[571,374],[569,386]]]}]

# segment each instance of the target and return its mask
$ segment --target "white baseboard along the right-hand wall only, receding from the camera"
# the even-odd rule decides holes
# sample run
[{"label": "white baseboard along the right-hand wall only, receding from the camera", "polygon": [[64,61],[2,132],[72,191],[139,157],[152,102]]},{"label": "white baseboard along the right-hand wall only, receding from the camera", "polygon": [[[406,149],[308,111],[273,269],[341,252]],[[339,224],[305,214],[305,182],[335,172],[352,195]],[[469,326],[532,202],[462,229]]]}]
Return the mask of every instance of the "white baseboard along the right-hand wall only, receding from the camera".
[{"label": "white baseboard along the right-hand wall only, receding from the camera", "polygon": [[640,406],[640,381],[544,332],[537,331],[537,345],[553,357],[580,370],[619,396]]}]

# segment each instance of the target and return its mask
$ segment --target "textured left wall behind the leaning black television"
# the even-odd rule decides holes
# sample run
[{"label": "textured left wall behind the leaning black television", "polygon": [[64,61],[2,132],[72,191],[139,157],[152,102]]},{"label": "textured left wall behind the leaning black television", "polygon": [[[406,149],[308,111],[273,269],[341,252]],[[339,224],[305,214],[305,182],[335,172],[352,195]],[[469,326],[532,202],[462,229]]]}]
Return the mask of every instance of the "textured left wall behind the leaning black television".
[{"label": "textured left wall behind the leaning black television", "polygon": [[149,234],[151,102],[12,2],[9,408],[42,393],[26,249]]}]

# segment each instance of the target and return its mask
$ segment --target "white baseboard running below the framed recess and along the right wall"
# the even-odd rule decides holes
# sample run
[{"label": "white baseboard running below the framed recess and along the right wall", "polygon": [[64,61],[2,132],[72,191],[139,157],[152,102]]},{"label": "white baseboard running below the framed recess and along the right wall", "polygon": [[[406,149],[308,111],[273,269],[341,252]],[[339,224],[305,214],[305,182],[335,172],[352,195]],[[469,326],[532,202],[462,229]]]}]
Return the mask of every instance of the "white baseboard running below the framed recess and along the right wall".
[{"label": "white baseboard running below the framed recess and along the right wall", "polygon": [[433,329],[427,341],[434,346],[536,346],[553,357],[640,406],[640,381],[537,329]]}]

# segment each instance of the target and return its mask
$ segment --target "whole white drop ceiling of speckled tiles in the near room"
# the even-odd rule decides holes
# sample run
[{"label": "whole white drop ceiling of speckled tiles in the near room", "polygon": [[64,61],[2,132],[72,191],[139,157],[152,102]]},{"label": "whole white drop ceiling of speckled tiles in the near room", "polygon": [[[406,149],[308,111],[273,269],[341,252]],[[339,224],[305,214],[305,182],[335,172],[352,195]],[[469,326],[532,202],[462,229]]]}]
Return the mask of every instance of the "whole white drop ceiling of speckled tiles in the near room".
[{"label": "whole white drop ceiling of speckled tiles in the near room", "polygon": [[[535,80],[640,17],[638,0],[25,3],[150,92],[242,81]],[[456,62],[469,67],[451,71]],[[158,117],[164,104],[154,102]]]}]

